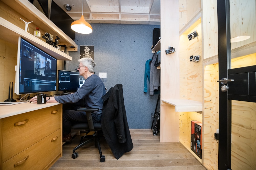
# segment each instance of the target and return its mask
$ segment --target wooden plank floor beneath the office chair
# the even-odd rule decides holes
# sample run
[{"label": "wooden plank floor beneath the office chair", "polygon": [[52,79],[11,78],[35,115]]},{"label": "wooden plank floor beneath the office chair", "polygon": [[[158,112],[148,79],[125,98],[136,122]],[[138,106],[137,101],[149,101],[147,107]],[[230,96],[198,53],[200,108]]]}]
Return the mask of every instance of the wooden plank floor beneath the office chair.
[{"label": "wooden plank floor beneath the office chair", "polygon": [[[190,169],[205,170],[188,150],[179,142],[160,143],[160,134],[153,136],[151,129],[130,129],[133,149],[120,159],[112,154],[105,139],[101,139],[105,162],[99,161],[94,142],[77,150],[78,157],[72,159],[72,149],[79,144],[80,136],[63,145],[62,157],[50,170],[65,169]],[[83,135],[83,133],[81,133]]]}]

